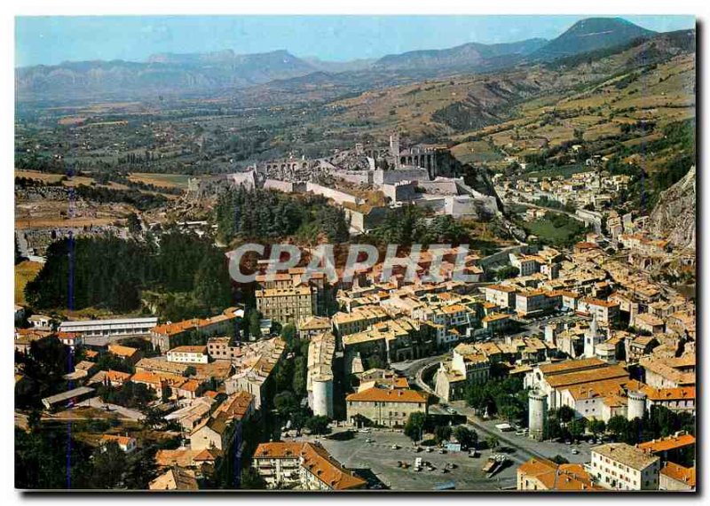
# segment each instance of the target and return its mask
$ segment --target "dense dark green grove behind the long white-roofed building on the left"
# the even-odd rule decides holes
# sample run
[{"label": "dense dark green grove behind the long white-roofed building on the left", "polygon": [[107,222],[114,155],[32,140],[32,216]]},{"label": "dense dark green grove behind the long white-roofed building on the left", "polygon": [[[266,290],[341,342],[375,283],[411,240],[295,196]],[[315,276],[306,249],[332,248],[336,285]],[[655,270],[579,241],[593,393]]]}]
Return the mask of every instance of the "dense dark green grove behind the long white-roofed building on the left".
[{"label": "dense dark green grove behind the long white-roofed building on the left", "polygon": [[192,315],[207,315],[232,301],[224,253],[208,238],[179,232],[163,235],[160,245],[154,237],[138,242],[109,235],[54,242],[25,294],[38,309],[125,312],[140,307],[142,290],[186,294]]}]

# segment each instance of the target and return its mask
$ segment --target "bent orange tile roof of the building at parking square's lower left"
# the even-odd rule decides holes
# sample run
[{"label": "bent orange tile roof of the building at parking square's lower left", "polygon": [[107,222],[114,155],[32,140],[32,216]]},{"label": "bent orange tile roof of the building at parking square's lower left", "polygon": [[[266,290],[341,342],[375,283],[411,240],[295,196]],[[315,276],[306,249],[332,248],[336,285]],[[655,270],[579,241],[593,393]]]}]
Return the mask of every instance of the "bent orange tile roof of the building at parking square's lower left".
[{"label": "bent orange tile roof of the building at parking square's lower left", "polygon": [[333,490],[365,487],[367,482],[353,476],[318,443],[273,442],[256,447],[254,458],[301,458],[301,466]]}]

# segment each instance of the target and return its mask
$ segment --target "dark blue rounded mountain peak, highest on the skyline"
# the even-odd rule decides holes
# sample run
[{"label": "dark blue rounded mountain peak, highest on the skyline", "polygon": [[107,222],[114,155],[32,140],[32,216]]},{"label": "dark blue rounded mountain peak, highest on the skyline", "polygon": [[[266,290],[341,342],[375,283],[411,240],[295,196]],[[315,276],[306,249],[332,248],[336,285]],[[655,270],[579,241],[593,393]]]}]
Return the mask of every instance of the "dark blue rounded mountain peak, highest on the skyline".
[{"label": "dark blue rounded mountain peak, highest on the skyline", "polygon": [[534,59],[554,59],[611,48],[634,39],[656,35],[621,18],[588,18],[577,21],[564,34],[534,51]]}]

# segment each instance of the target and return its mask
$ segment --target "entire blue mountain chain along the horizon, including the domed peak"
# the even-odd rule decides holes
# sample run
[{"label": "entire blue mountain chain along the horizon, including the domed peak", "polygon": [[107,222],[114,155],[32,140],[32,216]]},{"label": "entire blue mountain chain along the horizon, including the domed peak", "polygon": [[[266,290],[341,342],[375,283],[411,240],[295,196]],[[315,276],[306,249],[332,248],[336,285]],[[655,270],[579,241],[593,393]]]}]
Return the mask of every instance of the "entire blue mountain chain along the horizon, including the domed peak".
[{"label": "entire blue mountain chain along the horizon, including the domed peak", "polygon": [[231,50],[161,53],[150,56],[145,62],[99,60],[20,67],[15,69],[15,88],[17,99],[22,101],[228,91],[292,78],[307,81],[309,76],[317,83],[324,79],[324,73],[335,82],[348,82],[356,77],[367,85],[386,85],[406,77],[472,74],[525,62],[549,61],[654,34],[625,19],[589,18],[578,21],[551,41],[535,38],[516,43],[466,43],[450,49],[408,51],[376,60],[328,62],[299,58],[288,51],[246,55]]}]

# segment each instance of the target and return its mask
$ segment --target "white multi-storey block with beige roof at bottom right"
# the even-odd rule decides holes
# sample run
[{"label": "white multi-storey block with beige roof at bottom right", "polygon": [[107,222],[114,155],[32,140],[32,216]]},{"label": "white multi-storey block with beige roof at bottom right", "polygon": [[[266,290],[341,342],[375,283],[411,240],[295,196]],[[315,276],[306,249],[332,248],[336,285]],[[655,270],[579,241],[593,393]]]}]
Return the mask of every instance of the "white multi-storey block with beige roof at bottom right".
[{"label": "white multi-storey block with beige roof at bottom right", "polygon": [[592,448],[590,472],[611,490],[658,490],[660,458],[626,443]]}]

